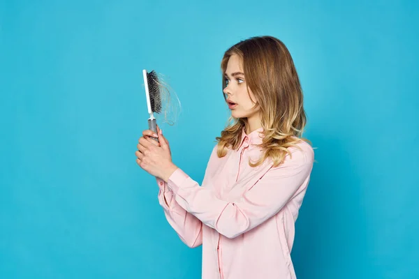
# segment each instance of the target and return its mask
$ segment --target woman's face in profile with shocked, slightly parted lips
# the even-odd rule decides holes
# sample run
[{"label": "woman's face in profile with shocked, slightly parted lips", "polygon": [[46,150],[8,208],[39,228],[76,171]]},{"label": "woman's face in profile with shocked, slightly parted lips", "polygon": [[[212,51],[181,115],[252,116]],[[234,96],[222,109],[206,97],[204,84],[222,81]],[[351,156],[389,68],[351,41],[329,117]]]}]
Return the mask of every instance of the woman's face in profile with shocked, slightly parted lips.
[{"label": "woman's face in profile with shocked, slightly parted lips", "polygon": [[[250,90],[247,90],[246,77],[244,77],[240,56],[237,56],[237,54],[230,56],[224,76],[226,77],[226,88],[223,89],[223,92],[227,96],[231,116],[247,118],[248,120],[258,116],[260,106],[258,105],[252,110],[256,98]],[[235,105],[230,104],[230,102]]]}]

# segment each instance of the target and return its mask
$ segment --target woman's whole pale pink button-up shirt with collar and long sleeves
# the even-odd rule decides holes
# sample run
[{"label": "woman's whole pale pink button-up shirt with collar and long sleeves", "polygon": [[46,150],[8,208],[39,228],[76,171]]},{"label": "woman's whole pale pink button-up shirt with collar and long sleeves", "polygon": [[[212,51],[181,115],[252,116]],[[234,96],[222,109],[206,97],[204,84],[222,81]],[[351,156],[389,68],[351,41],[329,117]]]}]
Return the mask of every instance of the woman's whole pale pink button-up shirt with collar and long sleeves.
[{"label": "woman's whole pale pink button-up shirt with collar and long sleeves", "polygon": [[242,132],[237,151],[223,158],[212,151],[202,186],[182,169],[168,183],[157,178],[159,203],[180,239],[193,248],[203,245],[203,279],[296,278],[291,261],[295,220],[307,190],[314,151],[302,151],[272,167],[270,159],[249,166],[260,157],[258,132]]}]

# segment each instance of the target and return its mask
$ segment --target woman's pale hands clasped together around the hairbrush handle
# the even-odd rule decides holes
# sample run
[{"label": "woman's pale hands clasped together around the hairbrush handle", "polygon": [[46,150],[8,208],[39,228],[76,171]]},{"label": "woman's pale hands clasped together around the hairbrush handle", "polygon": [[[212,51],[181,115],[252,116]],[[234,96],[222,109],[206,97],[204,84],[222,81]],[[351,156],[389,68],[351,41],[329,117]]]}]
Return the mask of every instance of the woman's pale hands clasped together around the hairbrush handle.
[{"label": "woman's pale hands clasped together around the hairbrush handle", "polygon": [[[158,135],[152,130],[144,130],[142,132],[142,137],[138,140],[138,151],[135,151],[135,156],[137,156],[137,164],[142,169],[167,182],[177,167],[172,163],[169,142],[163,137],[159,126],[157,126],[157,133]],[[150,137],[158,137],[159,142]]]}]

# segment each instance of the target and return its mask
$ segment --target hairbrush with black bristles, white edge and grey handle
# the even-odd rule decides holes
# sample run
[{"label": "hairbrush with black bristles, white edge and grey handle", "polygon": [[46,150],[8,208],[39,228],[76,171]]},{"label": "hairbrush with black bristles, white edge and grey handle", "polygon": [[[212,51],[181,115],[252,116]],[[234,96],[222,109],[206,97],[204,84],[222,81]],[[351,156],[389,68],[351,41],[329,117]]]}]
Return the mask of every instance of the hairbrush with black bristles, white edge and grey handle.
[{"label": "hairbrush with black bristles, white edge and grey handle", "polygon": [[[157,133],[157,123],[154,117],[154,112],[157,114],[161,112],[161,84],[156,72],[152,70],[147,73],[147,70],[142,70],[144,77],[145,96],[147,97],[147,109],[150,115],[148,119],[149,130]],[[159,141],[158,138],[152,137],[153,140]]]}]

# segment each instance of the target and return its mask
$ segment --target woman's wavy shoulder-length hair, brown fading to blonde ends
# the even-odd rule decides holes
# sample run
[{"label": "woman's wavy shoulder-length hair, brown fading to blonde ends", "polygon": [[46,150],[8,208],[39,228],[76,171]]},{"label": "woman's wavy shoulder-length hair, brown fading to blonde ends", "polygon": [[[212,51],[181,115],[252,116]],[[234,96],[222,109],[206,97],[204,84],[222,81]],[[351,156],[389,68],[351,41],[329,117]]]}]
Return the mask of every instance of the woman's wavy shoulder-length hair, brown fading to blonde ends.
[{"label": "woman's wavy shoulder-length hair, brown fading to blonde ends", "polygon": [[[254,107],[260,105],[260,119],[263,127],[263,156],[251,167],[261,165],[271,158],[273,167],[284,163],[289,147],[297,146],[302,138],[307,116],[303,107],[303,95],[297,71],[291,54],[281,42],[272,36],[257,36],[242,40],[230,47],[221,61],[223,89],[226,87],[228,59],[236,54],[242,61],[247,90],[256,98]],[[223,93],[224,99],[227,98]],[[250,96],[249,96],[250,98]],[[247,119],[230,116],[228,126],[216,137],[217,156],[226,156],[228,149],[238,149]],[[309,142],[310,143],[310,142]]]}]

